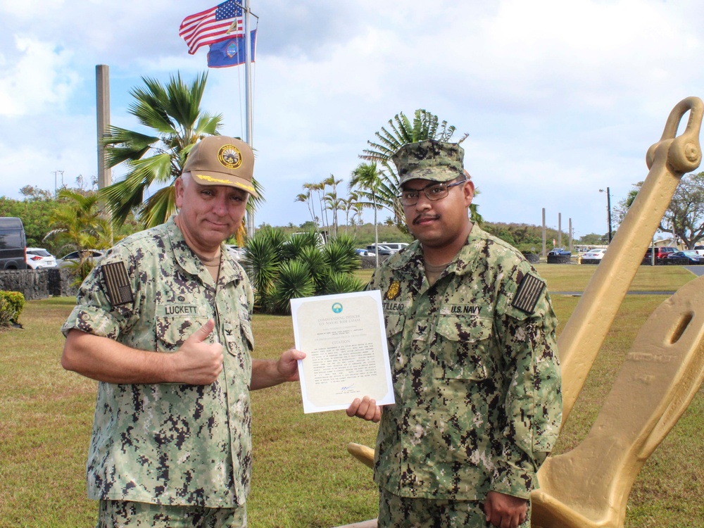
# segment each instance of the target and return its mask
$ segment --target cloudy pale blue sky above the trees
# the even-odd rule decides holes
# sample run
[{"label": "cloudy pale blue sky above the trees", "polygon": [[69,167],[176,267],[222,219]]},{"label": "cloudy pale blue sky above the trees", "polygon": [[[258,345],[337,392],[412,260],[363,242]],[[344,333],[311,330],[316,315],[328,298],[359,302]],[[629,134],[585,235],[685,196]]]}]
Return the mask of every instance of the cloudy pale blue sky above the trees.
[{"label": "cloudy pale blue sky above the trees", "polygon": [[[141,77],[206,70],[178,36],[217,0],[0,0],[0,196],[96,175],[95,66],[111,122]],[[672,108],[704,97],[704,4],[695,0],[251,0],[258,15],[255,223],[310,220],[306,182],[344,180],[396,113],[425,108],[460,134],[491,222],[575,237],[608,230],[643,180]],[[203,109],[244,136],[244,68],[210,70]],[[455,137],[460,137],[457,134]],[[63,171],[57,172],[57,171]],[[114,179],[122,172],[115,170]],[[385,218],[382,213],[380,218]],[[371,221],[371,212],[365,213]]]}]

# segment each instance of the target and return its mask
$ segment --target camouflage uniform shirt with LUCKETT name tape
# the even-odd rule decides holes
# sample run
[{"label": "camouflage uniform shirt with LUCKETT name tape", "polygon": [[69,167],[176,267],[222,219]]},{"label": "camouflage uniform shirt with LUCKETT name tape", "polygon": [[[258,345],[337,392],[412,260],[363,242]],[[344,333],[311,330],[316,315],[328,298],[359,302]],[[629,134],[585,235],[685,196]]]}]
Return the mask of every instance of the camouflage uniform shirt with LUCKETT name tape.
[{"label": "camouflage uniform shirt with LUCKETT name tape", "polygon": [[222,344],[225,359],[210,385],[99,384],[89,498],[208,508],[244,504],[252,458],[252,306],[249,280],[227,251],[216,287],[173,218],[120,241],[101,258],[82,284],[64,334],[77,328],[132,348],[172,353],[212,318],[208,341]]}]

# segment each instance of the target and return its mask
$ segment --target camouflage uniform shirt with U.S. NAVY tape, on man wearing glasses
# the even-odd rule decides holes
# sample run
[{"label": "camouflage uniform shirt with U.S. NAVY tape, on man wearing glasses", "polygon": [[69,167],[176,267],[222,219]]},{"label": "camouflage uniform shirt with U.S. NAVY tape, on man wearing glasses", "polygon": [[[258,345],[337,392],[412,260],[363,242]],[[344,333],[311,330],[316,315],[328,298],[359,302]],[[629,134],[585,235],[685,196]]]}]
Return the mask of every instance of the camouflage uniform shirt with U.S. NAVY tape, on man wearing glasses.
[{"label": "camouflage uniform shirt with U.S. NAVY tape, on man wearing glasses", "polygon": [[379,424],[375,482],[406,497],[528,498],[560,429],[557,319],[517,250],[474,225],[434,286],[416,241],[372,276],[396,404]]}]

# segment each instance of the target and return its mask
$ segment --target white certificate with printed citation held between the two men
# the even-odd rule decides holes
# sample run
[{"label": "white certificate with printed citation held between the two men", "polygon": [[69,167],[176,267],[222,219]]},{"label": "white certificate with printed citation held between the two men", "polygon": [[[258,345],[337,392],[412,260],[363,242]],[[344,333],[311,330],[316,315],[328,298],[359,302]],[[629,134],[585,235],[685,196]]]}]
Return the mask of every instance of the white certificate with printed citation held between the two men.
[{"label": "white certificate with printed citation held between the two men", "polygon": [[354,398],[394,403],[379,291],[291,299],[304,413],[340,410]]}]

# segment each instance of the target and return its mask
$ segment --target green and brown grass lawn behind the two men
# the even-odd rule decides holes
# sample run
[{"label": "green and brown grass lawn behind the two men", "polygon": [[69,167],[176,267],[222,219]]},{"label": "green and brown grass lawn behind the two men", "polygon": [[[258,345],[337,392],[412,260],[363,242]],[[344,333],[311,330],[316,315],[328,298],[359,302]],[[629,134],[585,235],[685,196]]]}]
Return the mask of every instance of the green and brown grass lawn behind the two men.
[{"label": "green and brown grass lawn behind the two men", "polygon": [[[582,291],[592,266],[539,265],[548,289]],[[368,278],[370,270],[358,273]],[[679,267],[641,266],[631,290],[672,291],[693,279]],[[558,452],[589,431],[617,370],[648,315],[667,296],[628,296],[587,379]],[[561,320],[579,298],[553,295]],[[0,333],[0,527],[92,527],[96,505],[85,497],[84,469],[96,383],[59,363],[58,332],[73,298],[28,301],[24,329]],[[288,317],[255,315],[256,356],[275,358],[292,345]],[[631,491],[626,526],[704,526],[702,389],[648,459]],[[346,452],[350,441],[374,445],[376,426],[344,411],[304,415],[297,384],[256,391],[250,525],[333,527],[377,515],[371,470]]]}]

